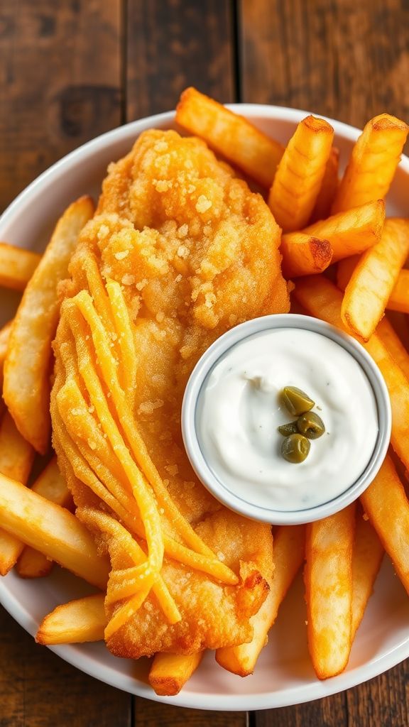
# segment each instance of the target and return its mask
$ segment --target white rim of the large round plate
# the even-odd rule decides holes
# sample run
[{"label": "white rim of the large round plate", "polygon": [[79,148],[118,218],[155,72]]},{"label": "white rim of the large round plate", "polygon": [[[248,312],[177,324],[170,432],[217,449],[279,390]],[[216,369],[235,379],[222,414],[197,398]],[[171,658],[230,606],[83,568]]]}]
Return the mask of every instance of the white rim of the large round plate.
[{"label": "white rim of the large round plate", "polygon": [[[226,104],[226,108],[231,111],[240,113],[242,116],[258,116],[260,119],[271,119],[271,121],[290,121],[298,123],[307,116],[309,111],[302,109],[288,108],[285,106],[276,106],[269,104],[254,103],[234,103]],[[355,126],[345,124],[343,121],[337,121],[327,116],[321,118],[329,121],[333,125],[335,135],[341,135],[346,140],[354,141],[361,133],[360,129]],[[33,193],[47,186],[49,177],[57,176],[57,183],[60,177],[69,171],[71,165],[75,165],[84,156],[92,156],[98,153],[98,150],[105,148],[109,142],[118,142],[122,138],[126,138],[135,129],[135,136],[143,129],[149,128],[156,124],[164,124],[172,122],[175,119],[175,111],[165,111],[164,113],[155,114],[153,116],[143,117],[131,121],[128,124],[111,129],[104,134],[100,134],[78,148],[74,149],[67,155],[60,158],[55,164],[39,174],[33,182],[25,187],[17,197],[7,206],[0,216],[0,225],[9,225],[15,219],[19,212],[20,206],[29,200]],[[409,158],[402,155],[399,168],[409,174]],[[0,579],[0,603],[6,611],[32,636],[36,633],[38,624],[36,619],[25,611],[20,601],[15,595],[9,591],[7,587],[8,577]],[[325,696],[338,694],[338,692],[357,686],[365,681],[374,678],[386,670],[391,669],[405,658],[409,656],[409,635],[404,638],[396,646],[387,649],[381,656],[375,656],[369,659],[365,664],[354,667],[349,672],[343,672],[340,675],[330,678],[326,681],[317,679],[313,684],[309,683],[303,686],[293,686],[285,690],[266,692],[264,694],[220,694],[212,695],[212,702],[209,702],[209,696],[204,692],[192,692],[182,690],[177,696],[159,696],[155,694],[153,689],[140,680],[132,677],[124,677],[120,672],[116,672],[112,667],[106,664],[100,664],[95,669],[95,660],[88,654],[81,654],[81,645],[61,645],[48,646],[50,651],[60,656],[65,662],[76,667],[80,671],[92,676],[95,679],[107,683],[110,686],[126,691],[128,694],[141,696],[145,699],[151,699],[154,702],[163,704],[173,704],[178,707],[188,707],[203,710],[226,710],[226,711],[245,711],[245,710],[268,710],[276,707],[290,707],[294,704],[303,704],[311,702],[314,699],[322,699]],[[94,668],[92,667],[94,664]],[[124,683],[124,680],[130,683]],[[303,694],[306,692],[306,694]],[[301,694],[300,694],[301,693]]]}]

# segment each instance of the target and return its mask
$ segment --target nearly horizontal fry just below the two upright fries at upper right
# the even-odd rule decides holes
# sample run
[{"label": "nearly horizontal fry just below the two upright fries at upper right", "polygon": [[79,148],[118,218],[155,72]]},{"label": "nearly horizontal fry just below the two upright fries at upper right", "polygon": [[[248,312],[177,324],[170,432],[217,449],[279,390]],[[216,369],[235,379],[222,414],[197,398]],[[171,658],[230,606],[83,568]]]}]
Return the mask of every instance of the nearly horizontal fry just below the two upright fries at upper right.
[{"label": "nearly horizontal fry just below the two upright fries at upper right", "polygon": [[[333,249],[332,262],[349,257],[375,245],[381,238],[384,228],[385,205],[382,201],[370,202],[348,212],[340,212],[327,220],[314,222],[314,225],[301,230],[303,235],[327,240]],[[282,236],[285,244],[297,241],[299,233]]]}]

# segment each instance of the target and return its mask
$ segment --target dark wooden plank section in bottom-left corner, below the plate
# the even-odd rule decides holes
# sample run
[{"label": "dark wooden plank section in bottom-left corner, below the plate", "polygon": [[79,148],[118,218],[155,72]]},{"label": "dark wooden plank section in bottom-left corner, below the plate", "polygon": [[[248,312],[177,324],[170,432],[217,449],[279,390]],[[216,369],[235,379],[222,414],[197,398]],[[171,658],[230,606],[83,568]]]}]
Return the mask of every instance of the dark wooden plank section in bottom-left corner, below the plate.
[{"label": "dark wooden plank section in bottom-left corner, below the plate", "polygon": [[131,697],[63,662],[0,606],[1,727],[129,727]]}]

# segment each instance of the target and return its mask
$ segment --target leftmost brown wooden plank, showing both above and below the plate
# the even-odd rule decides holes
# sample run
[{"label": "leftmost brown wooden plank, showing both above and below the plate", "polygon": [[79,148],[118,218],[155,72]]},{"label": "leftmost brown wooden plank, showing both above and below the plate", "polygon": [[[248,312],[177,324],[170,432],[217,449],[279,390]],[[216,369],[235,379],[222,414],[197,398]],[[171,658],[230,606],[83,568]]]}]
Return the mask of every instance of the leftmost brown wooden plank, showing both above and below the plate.
[{"label": "leftmost brown wooden plank, showing both above and below the plate", "polygon": [[[121,122],[121,0],[0,9],[0,209]],[[132,699],[36,646],[0,608],[1,727],[125,727]]]}]

